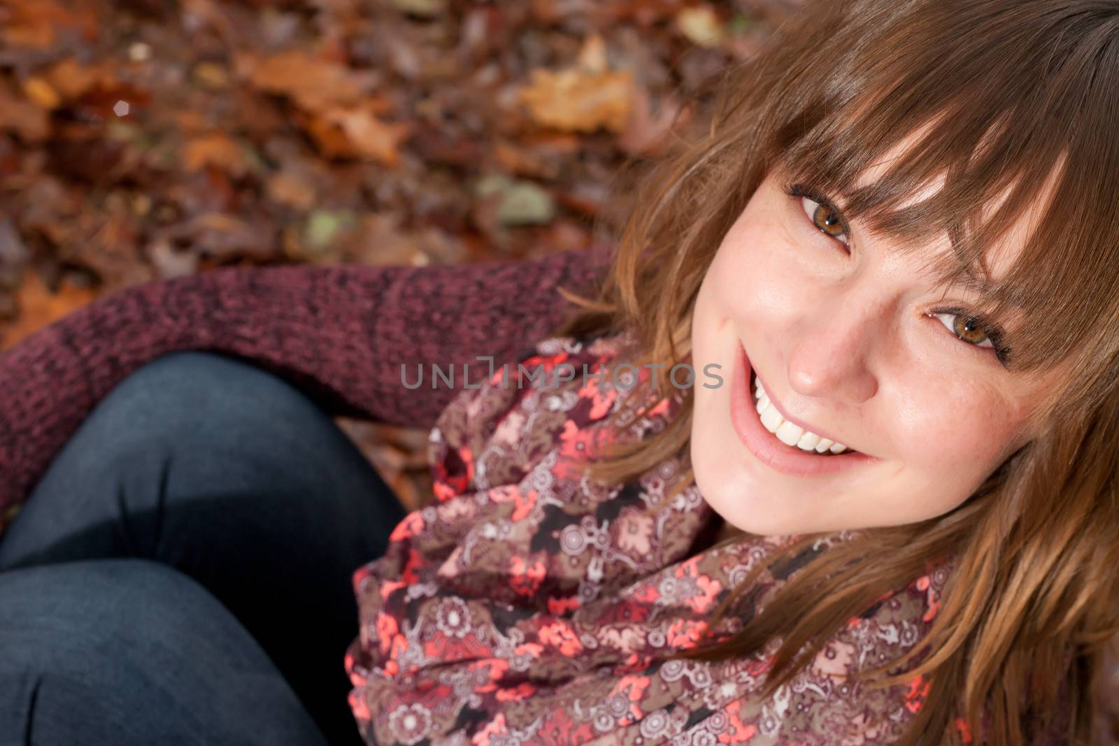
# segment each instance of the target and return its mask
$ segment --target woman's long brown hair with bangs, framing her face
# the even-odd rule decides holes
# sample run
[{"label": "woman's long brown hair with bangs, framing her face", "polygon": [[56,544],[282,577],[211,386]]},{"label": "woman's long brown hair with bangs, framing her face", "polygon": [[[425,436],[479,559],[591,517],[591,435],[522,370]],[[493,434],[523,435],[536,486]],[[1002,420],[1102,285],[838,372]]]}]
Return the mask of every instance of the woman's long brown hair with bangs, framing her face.
[{"label": "woman's long brown hair with bangs, framing her face", "polygon": [[[755,58],[727,70],[707,132],[652,164],[596,298],[566,293],[582,310],[557,334],[629,330],[630,361],[666,370],[685,361],[700,281],[759,183],[781,167],[841,196],[848,218],[863,216],[899,251],[920,252],[923,239],[947,230],[956,252],[930,266],[944,283],[965,275],[979,283],[977,310],[1010,330],[1008,367],[1023,376],[1068,370],[1068,383],[1038,409],[1042,434],[962,504],[838,542],[794,573],[741,632],[673,658],[749,655],[780,635],[765,683],[771,696],[846,620],[928,572],[931,560],[952,558],[951,584],[922,645],[866,672],[928,652],[906,673],[867,682],[929,678],[902,743],[959,743],[957,717],[977,740],[986,733],[991,744],[1024,743],[1023,728],[1050,727],[1059,688],[1072,705],[1069,736],[1087,742],[1100,652],[1119,631],[1116,79],[1115,1],[820,0]],[[914,133],[915,144],[888,171],[852,188]],[[902,207],[938,176],[942,189]],[[997,210],[984,211],[1004,196]],[[985,249],[1023,215],[1036,223],[993,284]],[[631,389],[628,400],[641,404],[619,416],[673,395],[666,378]],[[686,459],[690,426],[686,389],[667,427],[619,442],[587,474],[618,482],[664,459]],[[669,498],[690,480],[688,470]],[[819,536],[790,544],[773,563]],[[721,602],[708,629],[763,569]]]}]

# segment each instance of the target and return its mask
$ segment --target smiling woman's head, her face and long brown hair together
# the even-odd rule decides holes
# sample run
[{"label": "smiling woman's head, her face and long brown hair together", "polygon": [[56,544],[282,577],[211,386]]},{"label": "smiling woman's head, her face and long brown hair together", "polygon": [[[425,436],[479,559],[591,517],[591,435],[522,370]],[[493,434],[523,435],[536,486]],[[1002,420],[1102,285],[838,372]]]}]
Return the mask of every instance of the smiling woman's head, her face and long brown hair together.
[{"label": "smiling woman's head, her face and long brown hair together", "polygon": [[[859,671],[869,689],[918,674],[899,743],[1040,743],[1060,697],[1087,743],[1119,631],[1117,74],[1116,2],[810,3],[643,181],[561,332],[631,329],[632,359],[730,375],[587,474],[686,454],[668,497],[694,479],[717,546],[782,547],[714,613],[741,631],[668,658],[780,640],[774,696],[951,568],[923,644]],[[754,606],[752,582],[789,567]]]}]

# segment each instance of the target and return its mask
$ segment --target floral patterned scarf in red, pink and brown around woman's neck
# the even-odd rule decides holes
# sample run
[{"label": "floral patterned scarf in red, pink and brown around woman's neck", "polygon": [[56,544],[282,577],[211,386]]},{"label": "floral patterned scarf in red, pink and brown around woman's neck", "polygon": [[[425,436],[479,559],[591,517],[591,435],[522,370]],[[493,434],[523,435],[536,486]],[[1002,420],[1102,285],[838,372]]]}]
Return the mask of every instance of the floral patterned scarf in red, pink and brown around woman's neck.
[{"label": "floral patterned scarf in red, pink and brown around woman's neck", "polygon": [[[518,362],[593,372],[626,341],[552,338]],[[577,462],[596,438],[626,436],[602,426],[624,391],[609,377],[556,386],[554,374],[518,371],[495,371],[443,412],[429,446],[436,502],[408,514],[387,553],[354,575],[361,626],[346,668],[369,744],[858,746],[901,735],[928,683],[875,690],[847,674],[922,639],[947,565],[852,618],[771,698],[755,692],[780,640],[743,660],[651,661],[695,645],[723,595],[794,537],[747,535],[689,554],[717,518],[694,482],[642,512],[680,473],[678,460],[626,484],[581,480]],[[662,428],[679,404],[661,400],[632,435]],[[786,578],[761,575],[755,610]],[[741,622],[724,624],[721,635]]]}]

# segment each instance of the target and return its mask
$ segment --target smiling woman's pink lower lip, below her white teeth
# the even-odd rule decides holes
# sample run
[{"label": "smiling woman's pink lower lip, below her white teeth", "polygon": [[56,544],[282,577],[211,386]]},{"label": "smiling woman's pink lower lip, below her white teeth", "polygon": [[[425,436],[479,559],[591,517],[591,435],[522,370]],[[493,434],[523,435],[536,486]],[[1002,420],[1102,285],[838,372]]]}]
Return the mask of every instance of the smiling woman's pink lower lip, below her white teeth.
[{"label": "smiling woman's pink lower lip, below her white teeth", "polygon": [[731,424],[759,461],[777,471],[796,476],[834,474],[875,461],[874,456],[856,451],[831,456],[817,455],[777,440],[773,433],[765,429],[761,417],[758,416],[758,406],[750,391],[750,360],[741,342],[737,348],[731,375]]}]

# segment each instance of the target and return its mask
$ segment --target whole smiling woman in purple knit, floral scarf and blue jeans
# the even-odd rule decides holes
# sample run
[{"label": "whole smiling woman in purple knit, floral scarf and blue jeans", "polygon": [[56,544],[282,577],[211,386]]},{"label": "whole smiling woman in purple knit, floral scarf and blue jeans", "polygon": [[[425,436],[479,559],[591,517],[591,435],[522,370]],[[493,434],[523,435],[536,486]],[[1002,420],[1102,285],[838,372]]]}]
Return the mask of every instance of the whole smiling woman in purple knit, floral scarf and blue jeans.
[{"label": "whole smiling woman in purple knit, floral scarf and blue jeans", "polygon": [[[21,341],[0,740],[1088,743],[1117,75],[1116,0],[819,0],[594,296],[596,253],[229,267]],[[433,500],[328,410],[430,426]]]}]

